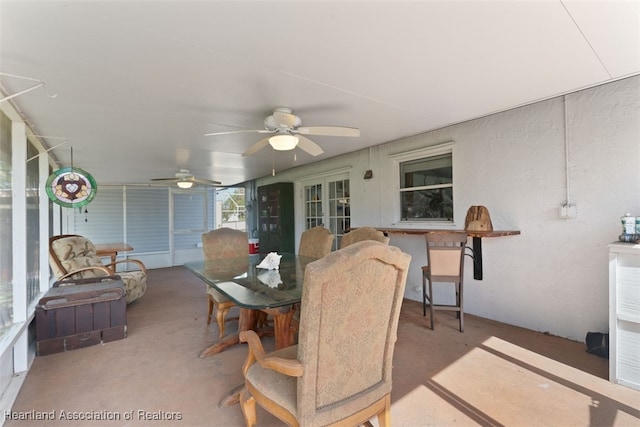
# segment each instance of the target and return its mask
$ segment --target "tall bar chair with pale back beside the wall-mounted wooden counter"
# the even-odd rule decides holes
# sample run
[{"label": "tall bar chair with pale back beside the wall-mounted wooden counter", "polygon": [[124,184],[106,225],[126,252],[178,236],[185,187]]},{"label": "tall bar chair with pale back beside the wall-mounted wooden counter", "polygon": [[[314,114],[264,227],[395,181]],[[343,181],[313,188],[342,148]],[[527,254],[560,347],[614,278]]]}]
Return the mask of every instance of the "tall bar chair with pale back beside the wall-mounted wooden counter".
[{"label": "tall bar chair with pale back beside the wall-mounted wooden counter", "polygon": [[[464,257],[467,233],[449,232],[425,234],[427,243],[427,265],[422,267],[422,315],[427,315],[427,305],[431,315],[431,329],[434,328],[435,310],[457,312],[460,332],[464,331],[463,279]],[[429,283],[427,291],[427,282]],[[455,304],[436,304],[433,295],[434,283],[452,283]]]}]

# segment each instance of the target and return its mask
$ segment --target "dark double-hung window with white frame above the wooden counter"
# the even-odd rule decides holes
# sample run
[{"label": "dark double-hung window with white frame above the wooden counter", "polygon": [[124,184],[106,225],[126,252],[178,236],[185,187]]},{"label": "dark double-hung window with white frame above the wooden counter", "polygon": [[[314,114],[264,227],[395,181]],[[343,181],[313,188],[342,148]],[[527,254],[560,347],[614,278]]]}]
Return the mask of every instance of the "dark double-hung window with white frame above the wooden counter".
[{"label": "dark double-hung window with white frame above the wooden counter", "polygon": [[453,222],[451,149],[400,162],[401,221]]}]

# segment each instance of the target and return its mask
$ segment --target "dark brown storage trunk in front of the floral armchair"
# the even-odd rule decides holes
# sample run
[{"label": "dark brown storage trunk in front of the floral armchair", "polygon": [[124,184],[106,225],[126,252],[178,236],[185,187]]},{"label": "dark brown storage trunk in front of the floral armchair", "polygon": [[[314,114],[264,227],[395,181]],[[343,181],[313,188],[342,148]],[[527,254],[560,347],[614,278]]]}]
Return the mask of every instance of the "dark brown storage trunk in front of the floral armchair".
[{"label": "dark brown storage trunk in front of the floral armchair", "polygon": [[118,276],[66,280],[53,286],[36,306],[37,355],[126,336],[127,303]]}]

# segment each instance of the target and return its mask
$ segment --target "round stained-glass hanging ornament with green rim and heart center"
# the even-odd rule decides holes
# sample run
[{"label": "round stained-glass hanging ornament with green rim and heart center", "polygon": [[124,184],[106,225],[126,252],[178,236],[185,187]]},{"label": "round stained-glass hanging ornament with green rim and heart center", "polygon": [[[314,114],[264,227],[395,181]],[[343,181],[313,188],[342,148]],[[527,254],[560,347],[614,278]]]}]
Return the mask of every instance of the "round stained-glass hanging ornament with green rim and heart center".
[{"label": "round stained-glass hanging ornament with green rim and heart center", "polygon": [[91,174],[73,167],[71,148],[71,167],[60,168],[49,175],[45,190],[54,203],[65,208],[79,208],[93,200],[98,186]]}]

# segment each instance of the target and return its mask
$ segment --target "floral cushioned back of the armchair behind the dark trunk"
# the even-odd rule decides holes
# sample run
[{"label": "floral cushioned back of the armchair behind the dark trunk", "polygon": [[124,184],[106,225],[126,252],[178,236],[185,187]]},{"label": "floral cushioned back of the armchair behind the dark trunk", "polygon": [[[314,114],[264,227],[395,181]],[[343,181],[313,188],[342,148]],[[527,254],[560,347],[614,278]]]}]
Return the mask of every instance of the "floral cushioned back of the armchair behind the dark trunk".
[{"label": "floral cushioned back of the armchair behind the dark trunk", "polygon": [[[49,264],[56,279],[85,267],[104,266],[91,240],[77,234],[62,234],[49,238]],[[101,276],[106,276],[106,273],[100,270],[85,270],[73,278]]]}]

